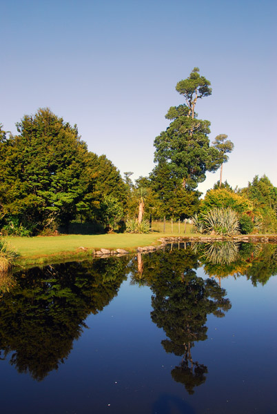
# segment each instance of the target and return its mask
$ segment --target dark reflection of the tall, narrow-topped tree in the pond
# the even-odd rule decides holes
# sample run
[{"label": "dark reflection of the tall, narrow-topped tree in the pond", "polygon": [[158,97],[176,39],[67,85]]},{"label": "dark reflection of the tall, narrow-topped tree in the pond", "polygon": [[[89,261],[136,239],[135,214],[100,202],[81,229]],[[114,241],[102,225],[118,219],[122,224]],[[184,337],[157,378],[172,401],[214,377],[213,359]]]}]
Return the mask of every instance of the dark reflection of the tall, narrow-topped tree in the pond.
[{"label": "dark reflection of the tall, narrow-topped tree in the pond", "polygon": [[153,259],[155,263],[148,264],[156,270],[155,276],[150,275],[152,320],[167,335],[162,341],[165,351],[183,356],[172,377],[192,394],[207,373],[205,365],[193,361],[194,343],[207,339],[207,315],[223,316],[231,304],[214,279],[196,276],[198,262],[191,248],[157,253]]}]

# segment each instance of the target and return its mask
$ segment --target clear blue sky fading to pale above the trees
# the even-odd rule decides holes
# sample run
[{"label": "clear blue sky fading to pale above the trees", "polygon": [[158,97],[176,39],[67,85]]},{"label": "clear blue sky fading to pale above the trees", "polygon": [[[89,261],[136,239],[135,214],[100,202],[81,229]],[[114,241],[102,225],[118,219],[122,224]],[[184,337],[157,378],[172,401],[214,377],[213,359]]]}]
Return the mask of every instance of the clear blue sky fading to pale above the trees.
[{"label": "clear blue sky fading to pale above the trees", "polygon": [[0,18],[5,130],[49,107],[122,174],[145,176],[165,113],[183,103],[176,83],[198,66],[213,89],[198,117],[235,145],[223,179],[277,186],[276,1],[6,0]]}]

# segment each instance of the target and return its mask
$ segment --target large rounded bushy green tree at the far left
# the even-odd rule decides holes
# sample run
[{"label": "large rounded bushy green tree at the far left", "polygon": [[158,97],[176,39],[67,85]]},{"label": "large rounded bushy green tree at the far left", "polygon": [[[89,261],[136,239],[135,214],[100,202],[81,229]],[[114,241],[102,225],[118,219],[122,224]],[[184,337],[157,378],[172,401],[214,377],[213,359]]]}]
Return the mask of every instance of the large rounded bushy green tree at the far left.
[{"label": "large rounded bushy green tree at the far left", "polygon": [[25,115],[17,130],[19,135],[0,144],[2,215],[17,215],[38,229],[67,223],[92,191],[85,179],[87,148],[76,126],[46,108]]}]

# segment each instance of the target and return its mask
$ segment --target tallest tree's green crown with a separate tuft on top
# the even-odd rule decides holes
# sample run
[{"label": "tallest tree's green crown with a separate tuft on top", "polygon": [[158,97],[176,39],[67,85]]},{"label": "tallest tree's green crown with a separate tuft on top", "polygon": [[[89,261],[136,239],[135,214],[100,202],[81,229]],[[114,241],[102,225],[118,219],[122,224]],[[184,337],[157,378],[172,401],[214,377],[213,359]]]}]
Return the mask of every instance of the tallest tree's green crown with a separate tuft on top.
[{"label": "tallest tree's green crown with a separate tuft on top", "polygon": [[196,118],[197,99],[211,95],[210,82],[194,68],[189,77],[177,83],[176,90],[186,103],[171,107],[165,116],[172,122],[154,140],[154,161],[167,164],[172,175],[187,190],[205,180],[207,171],[215,171],[222,163],[220,152],[209,145],[209,121]]}]

